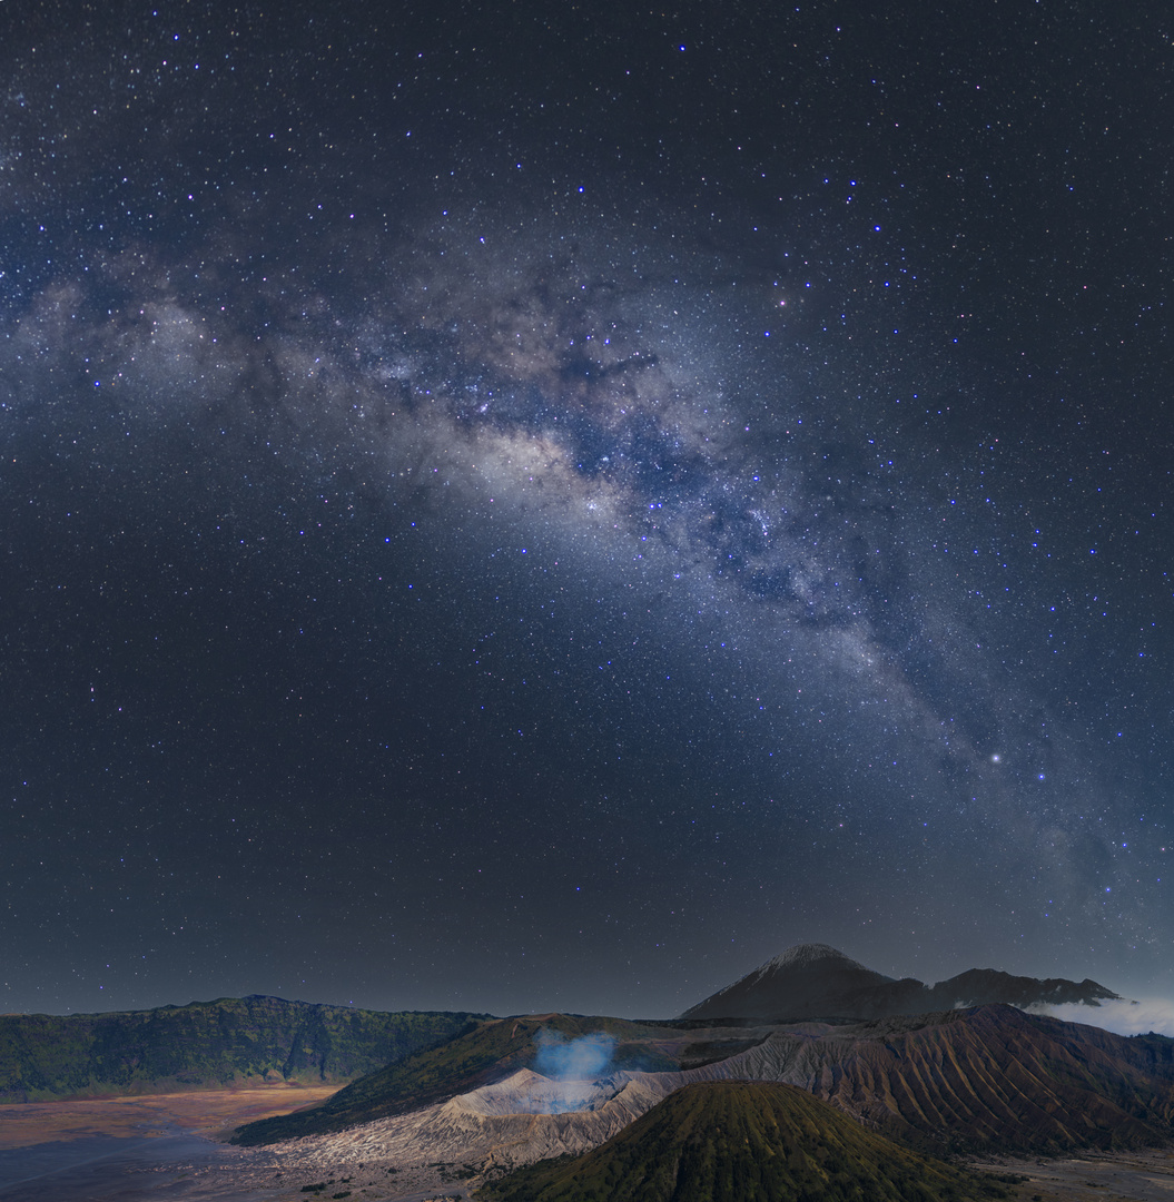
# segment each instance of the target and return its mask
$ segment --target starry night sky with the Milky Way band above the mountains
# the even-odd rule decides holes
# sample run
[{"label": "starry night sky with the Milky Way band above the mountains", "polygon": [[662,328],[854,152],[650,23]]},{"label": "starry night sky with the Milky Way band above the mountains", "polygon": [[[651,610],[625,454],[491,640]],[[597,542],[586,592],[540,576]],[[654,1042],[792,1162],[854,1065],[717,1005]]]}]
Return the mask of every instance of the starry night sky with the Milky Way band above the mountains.
[{"label": "starry night sky with the Milky Way band above the mountains", "polygon": [[0,1010],[1174,993],[1174,18],[0,6]]}]

